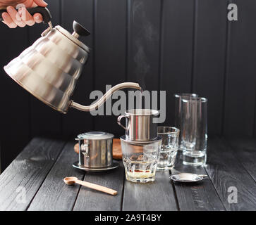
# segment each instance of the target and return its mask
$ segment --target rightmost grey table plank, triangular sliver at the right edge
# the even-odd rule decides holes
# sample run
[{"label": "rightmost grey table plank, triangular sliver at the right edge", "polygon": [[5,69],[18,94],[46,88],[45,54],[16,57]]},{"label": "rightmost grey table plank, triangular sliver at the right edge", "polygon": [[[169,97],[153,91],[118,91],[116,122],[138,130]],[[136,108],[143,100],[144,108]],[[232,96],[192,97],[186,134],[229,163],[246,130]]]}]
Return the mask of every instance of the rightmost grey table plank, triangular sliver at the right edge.
[{"label": "rightmost grey table plank, triangular sliver at the right edge", "polygon": [[237,160],[256,182],[256,139],[232,138],[228,139],[228,143],[232,146],[233,154],[236,156]]}]

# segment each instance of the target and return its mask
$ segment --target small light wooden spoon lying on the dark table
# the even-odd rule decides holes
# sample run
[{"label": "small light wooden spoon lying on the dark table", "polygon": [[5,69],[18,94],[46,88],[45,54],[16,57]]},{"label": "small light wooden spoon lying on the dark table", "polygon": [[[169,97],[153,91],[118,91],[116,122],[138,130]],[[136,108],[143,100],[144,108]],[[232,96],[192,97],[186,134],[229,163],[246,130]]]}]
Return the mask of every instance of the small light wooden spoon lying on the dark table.
[{"label": "small light wooden spoon lying on the dark table", "polygon": [[92,184],[92,183],[89,183],[89,182],[86,182],[86,181],[80,181],[75,176],[65,177],[63,179],[63,181],[68,185],[80,184],[80,185],[83,185],[87,188],[92,188],[92,189],[97,190],[97,191],[102,191],[104,193],[108,193],[109,195],[117,195],[117,191],[115,191],[113,189],[106,188],[104,186],[100,186],[100,185],[97,185],[97,184]]}]

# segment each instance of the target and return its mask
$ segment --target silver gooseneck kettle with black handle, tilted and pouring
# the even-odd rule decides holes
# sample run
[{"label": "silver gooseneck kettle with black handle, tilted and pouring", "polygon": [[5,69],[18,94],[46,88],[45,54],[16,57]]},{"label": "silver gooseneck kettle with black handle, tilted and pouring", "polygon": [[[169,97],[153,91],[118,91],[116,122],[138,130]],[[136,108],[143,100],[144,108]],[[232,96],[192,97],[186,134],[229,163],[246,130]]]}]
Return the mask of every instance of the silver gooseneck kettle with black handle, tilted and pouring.
[{"label": "silver gooseneck kettle with black handle, tilted and pouring", "polygon": [[47,8],[29,8],[28,11],[32,15],[41,13],[44,23],[48,23],[49,27],[32,46],[11,60],[4,70],[40,101],[61,113],[67,113],[71,107],[90,111],[99,108],[117,90],[141,90],[139,84],[126,82],[114,86],[93,105],[85,106],[73,102],[70,98],[90,53],[90,49],[78,37],[87,36],[90,32],[75,21],[73,34],[59,25],[53,27]]}]

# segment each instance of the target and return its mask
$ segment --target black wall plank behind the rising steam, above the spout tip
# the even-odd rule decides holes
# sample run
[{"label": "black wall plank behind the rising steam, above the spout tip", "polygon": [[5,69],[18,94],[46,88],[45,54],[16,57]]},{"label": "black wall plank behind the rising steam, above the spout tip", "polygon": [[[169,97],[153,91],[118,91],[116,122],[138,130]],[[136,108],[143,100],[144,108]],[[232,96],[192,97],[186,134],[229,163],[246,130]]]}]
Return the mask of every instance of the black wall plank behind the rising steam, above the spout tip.
[{"label": "black wall plank behind the rising steam, above the spout tip", "polygon": [[128,0],[128,81],[158,90],[161,1]]}]

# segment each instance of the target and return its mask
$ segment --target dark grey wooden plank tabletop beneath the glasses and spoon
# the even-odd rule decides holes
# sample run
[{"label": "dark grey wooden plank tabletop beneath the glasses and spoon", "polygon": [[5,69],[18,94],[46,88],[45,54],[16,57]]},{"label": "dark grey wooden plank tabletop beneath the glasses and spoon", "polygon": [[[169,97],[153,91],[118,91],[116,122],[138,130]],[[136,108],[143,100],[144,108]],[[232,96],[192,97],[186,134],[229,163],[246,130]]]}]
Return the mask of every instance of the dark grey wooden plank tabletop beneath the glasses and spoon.
[{"label": "dark grey wooden plank tabletop beneath the glasses and spoon", "polygon": [[[0,210],[256,210],[256,140],[210,138],[206,167],[183,166],[180,172],[207,174],[198,184],[178,184],[169,172],[157,172],[153,183],[126,181],[123,164],[109,172],[81,172],[74,141],[35,138],[0,175]],[[112,196],[79,185],[67,186],[63,177],[108,186]],[[228,195],[237,203],[228,203]],[[229,201],[230,202],[230,201]]]}]

